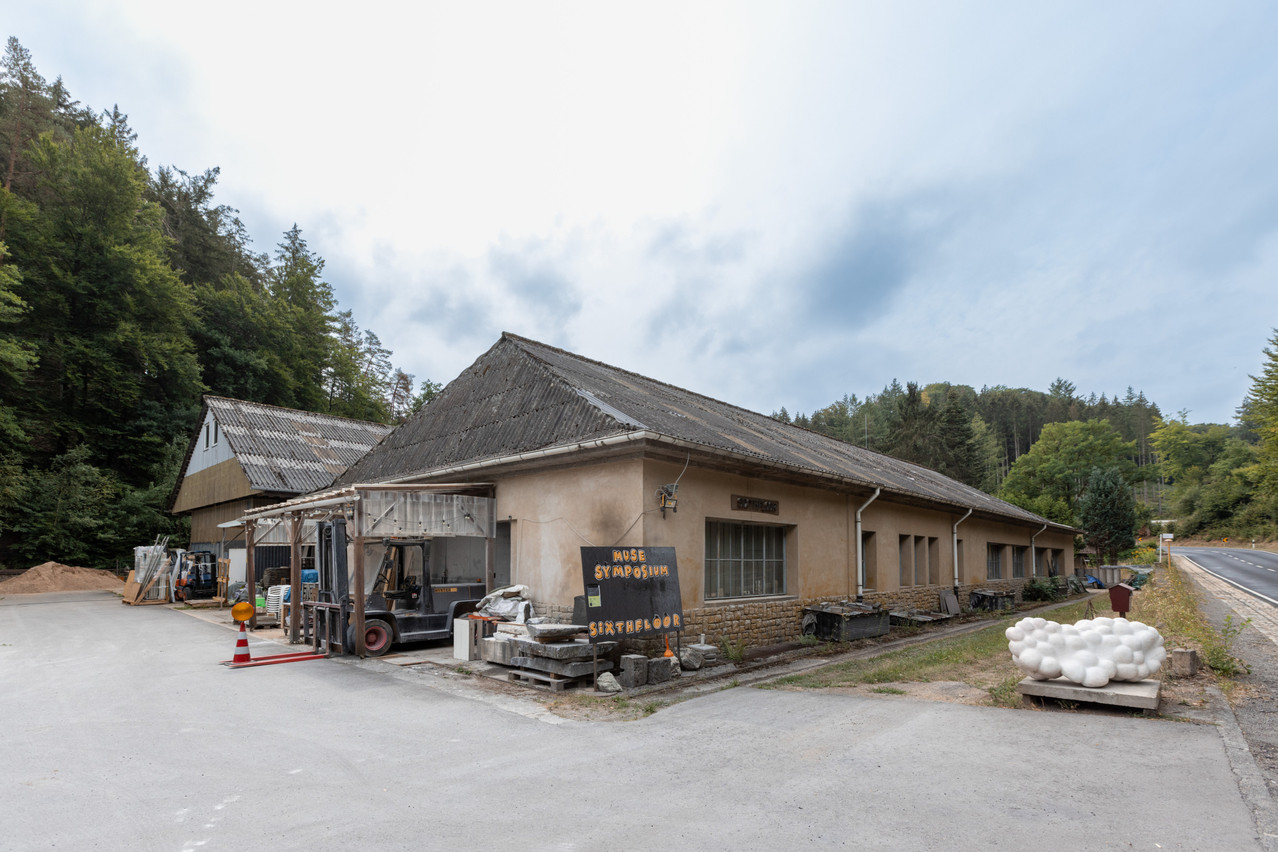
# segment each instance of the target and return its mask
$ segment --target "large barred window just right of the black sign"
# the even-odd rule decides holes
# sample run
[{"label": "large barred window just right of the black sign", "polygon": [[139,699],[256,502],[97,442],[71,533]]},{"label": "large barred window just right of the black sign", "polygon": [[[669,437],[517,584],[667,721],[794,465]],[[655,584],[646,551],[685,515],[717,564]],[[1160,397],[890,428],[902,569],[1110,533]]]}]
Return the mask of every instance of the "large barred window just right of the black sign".
[{"label": "large barred window just right of the black sign", "polygon": [[705,521],[705,599],[786,594],[786,529]]}]

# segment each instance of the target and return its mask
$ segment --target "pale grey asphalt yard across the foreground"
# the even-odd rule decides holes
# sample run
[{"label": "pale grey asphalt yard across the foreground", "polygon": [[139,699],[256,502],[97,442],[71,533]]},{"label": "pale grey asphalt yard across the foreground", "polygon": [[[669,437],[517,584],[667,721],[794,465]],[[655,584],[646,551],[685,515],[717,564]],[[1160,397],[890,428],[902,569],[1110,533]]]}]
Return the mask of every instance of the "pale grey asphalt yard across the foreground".
[{"label": "pale grey asphalt yard across the foreground", "polygon": [[1265,848],[1212,726],[748,687],[548,724],[428,667],[233,646],[0,599],[0,847]]}]

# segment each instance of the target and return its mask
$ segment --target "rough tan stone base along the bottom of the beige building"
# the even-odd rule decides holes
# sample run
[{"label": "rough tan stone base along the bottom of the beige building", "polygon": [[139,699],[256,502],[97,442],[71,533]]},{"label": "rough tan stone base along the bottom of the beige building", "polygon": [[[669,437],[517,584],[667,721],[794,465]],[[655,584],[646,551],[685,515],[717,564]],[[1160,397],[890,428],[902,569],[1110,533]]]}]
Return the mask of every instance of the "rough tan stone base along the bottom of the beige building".
[{"label": "rough tan stone base along the bottom of the beige building", "polygon": [[[1016,603],[1021,602],[1021,589],[1025,580],[989,580],[973,585],[958,586],[958,605],[967,609],[967,599],[976,589],[990,591],[1003,591],[1015,595]],[[870,604],[879,604],[883,609],[920,609],[934,612],[941,608],[941,593],[951,590],[952,586],[907,586],[893,591],[868,591],[863,600]],[[718,645],[723,640],[735,644],[744,643],[746,648],[763,648],[792,643],[803,635],[803,611],[814,603],[838,600],[838,598],[785,598],[777,600],[757,600],[743,603],[726,603],[711,607],[695,607],[684,611],[684,641],[700,641],[705,634],[705,641]],[[533,603],[533,611],[538,616],[544,616],[557,622],[567,623],[573,620],[573,607],[564,607],[547,603]],[[671,636],[674,646],[674,636]],[[625,643],[627,651],[651,654],[665,649],[661,639],[654,640],[629,640]]]}]

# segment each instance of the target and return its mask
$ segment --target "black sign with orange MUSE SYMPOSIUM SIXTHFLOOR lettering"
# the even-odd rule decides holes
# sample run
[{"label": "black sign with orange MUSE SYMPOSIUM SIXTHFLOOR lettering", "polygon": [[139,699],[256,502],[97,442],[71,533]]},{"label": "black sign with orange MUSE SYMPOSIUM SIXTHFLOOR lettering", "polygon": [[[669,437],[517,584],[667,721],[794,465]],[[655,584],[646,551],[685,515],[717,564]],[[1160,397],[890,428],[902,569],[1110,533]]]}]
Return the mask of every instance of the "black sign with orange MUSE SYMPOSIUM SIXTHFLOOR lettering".
[{"label": "black sign with orange MUSE SYMPOSIUM SIXTHFLOOR lettering", "polygon": [[590,641],[659,636],[684,628],[672,547],[583,547]]}]

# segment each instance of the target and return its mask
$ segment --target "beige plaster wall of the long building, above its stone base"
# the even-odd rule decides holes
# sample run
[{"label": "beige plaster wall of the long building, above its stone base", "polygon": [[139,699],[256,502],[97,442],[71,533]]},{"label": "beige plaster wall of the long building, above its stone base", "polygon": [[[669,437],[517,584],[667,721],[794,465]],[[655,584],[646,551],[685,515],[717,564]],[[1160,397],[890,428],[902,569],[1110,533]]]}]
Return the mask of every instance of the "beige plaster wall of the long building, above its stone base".
[{"label": "beige plaster wall of the long building, above its stone base", "polygon": [[[662,517],[657,489],[676,480],[679,510],[667,511]],[[739,511],[732,506],[735,494],[777,501],[778,513]],[[555,608],[556,614],[570,612],[573,598],[581,594],[580,548],[585,544],[672,547],[679,558],[685,613],[776,602],[781,609],[768,611],[768,626],[759,628],[763,632],[780,630],[772,622],[780,626],[791,621],[797,623],[803,603],[855,597],[855,515],[864,502],[864,497],[819,488],[772,483],[695,465],[685,470],[679,462],[638,457],[514,475],[504,478],[497,487],[497,517],[512,521],[511,582],[533,589],[539,612],[546,612],[547,607]],[[865,599],[920,609],[938,607],[938,591],[953,585],[952,528],[962,516],[964,512],[905,506],[883,497],[873,502],[863,515],[863,529],[874,533],[873,551],[868,554]],[[707,602],[703,589],[707,519],[786,528],[786,594]],[[962,568],[958,585],[964,590],[1002,588],[985,579],[987,542],[1029,547],[1035,529],[969,517],[958,526]],[[900,584],[901,535],[921,536],[920,554],[930,568],[927,582]],[[1042,533],[1035,547],[1063,551],[1061,570],[1067,572],[1072,536]],[[1025,574],[1030,576],[1028,553]],[[1045,574],[1045,568],[1040,574]],[[1003,580],[1011,580],[1010,552],[1005,557]],[[1020,581],[1015,585],[1019,588]],[[961,600],[966,603],[966,598]]]}]

